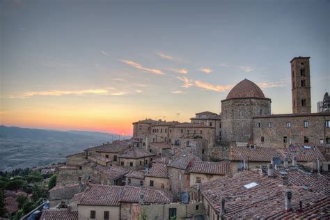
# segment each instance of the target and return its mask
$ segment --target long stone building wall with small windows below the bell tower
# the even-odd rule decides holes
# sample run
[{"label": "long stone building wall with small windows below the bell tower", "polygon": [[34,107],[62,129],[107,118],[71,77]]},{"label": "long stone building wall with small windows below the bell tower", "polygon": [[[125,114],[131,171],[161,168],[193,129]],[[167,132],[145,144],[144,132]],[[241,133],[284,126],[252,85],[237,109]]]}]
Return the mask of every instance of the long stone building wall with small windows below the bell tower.
[{"label": "long stone building wall with small windows below the bell tower", "polygon": [[[325,126],[326,120],[330,120],[330,113],[253,118],[253,142],[258,146],[273,148],[285,148],[290,143],[295,146],[317,146],[320,140],[326,143],[328,138],[330,141],[330,128]],[[304,121],[308,121],[308,127],[304,127]],[[256,123],[260,123],[260,127],[256,127]],[[287,123],[290,123],[290,127]],[[308,138],[308,143],[304,143],[304,137]]]}]

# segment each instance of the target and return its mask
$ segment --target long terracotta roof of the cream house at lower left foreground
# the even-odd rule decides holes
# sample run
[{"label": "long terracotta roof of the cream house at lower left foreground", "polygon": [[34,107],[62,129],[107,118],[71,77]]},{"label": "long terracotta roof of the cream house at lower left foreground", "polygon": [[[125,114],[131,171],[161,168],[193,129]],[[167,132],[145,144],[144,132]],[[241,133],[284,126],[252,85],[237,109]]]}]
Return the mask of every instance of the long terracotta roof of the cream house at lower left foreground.
[{"label": "long terracotta roof of the cream house at lower left foreground", "polygon": [[120,203],[139,203],[140,194],[143,194],[145,204],[167,204],[173,200],[173,196],[168,192],[155,189],[91,184],[79,205],[118,206]]}]

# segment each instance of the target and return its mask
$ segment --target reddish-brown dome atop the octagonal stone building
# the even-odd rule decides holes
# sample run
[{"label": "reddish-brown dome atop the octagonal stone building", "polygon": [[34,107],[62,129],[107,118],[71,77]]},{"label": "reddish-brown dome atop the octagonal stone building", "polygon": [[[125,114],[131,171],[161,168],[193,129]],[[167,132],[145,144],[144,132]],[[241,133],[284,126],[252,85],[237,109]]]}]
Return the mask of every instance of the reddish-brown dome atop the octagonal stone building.
[{"label": "reddish-brown dome atop the octagonal stone building", "polygon": [[226,100],[233,98],[244,98],[244,97],[256,97],[256,98],[265,98],[264,93],[262,93],[259,86],[257,86],[253,81],[249,79],[244,79],[240,81],[226,97]]}]

